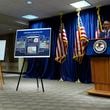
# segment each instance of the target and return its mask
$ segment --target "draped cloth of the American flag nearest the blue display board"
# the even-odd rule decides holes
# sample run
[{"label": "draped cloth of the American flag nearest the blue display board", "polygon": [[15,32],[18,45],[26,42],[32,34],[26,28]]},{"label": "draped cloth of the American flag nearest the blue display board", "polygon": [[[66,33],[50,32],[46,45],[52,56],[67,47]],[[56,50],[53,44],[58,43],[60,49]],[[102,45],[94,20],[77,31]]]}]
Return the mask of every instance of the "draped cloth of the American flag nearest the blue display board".
[{"label": "draped cloth of the American flag nearest the blue display board", "polygon": [[68,48],[68,39],[64,28],[64,24],[61,23],[59,36],[57,38],[57,47],[56,47],[55,60],[57,62],[62,63],[64,61],[67,55],[67,48]]}]

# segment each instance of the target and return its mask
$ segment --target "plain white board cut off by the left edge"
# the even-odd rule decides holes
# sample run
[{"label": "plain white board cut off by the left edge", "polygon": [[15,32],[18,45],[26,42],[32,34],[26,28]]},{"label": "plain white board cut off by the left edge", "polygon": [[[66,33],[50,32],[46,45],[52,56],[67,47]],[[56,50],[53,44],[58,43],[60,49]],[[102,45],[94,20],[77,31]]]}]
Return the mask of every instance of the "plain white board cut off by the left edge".
[{"label": "plain white board cut off by the left edge", "polygon": [[6,40],[0,40],[0,61],[5,58]]}]

